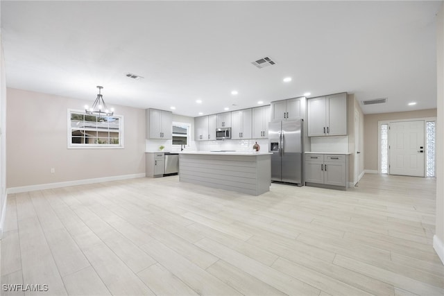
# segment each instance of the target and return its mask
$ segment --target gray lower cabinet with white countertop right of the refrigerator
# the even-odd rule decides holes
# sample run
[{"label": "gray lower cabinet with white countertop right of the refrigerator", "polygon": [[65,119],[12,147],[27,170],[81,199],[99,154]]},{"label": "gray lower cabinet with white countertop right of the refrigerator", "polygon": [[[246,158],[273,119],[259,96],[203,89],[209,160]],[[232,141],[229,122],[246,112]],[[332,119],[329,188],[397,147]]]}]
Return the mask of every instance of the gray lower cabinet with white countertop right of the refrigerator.
[{"label": "gray lower cabinet with white countertop right of the refrigerator", "polygon": [[348,155],[305,154],[305,184],[348,187]]}]

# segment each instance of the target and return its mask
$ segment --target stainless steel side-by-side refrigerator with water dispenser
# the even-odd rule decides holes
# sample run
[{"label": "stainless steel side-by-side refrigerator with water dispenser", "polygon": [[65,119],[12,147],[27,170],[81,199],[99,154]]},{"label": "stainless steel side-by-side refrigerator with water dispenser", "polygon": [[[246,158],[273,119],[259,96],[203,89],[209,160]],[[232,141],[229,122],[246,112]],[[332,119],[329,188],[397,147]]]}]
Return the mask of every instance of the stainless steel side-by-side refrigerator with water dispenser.
[{"label": "stainless steel side-by-side refrigerator with water dispenser", "polygon": [[303,184],[302,119],[268,123],[271,180]]}]

